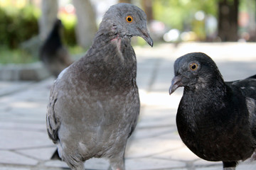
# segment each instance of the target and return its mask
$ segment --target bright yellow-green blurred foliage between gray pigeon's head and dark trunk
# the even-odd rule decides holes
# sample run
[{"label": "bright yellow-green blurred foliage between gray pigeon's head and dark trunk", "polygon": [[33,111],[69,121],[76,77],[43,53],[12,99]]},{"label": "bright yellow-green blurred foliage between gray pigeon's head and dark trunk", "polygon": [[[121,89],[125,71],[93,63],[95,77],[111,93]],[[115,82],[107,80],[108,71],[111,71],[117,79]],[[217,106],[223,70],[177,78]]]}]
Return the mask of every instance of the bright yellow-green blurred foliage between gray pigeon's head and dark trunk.
[{"label": "bright yellow-green blurred foliage between gray pigeon's head and dark trunk", "polygon": [[153,8],[156,20],[162,21],[169,28],[185,30],[193,23],[197,11],[217,16],[218,0],[153,0]]}]

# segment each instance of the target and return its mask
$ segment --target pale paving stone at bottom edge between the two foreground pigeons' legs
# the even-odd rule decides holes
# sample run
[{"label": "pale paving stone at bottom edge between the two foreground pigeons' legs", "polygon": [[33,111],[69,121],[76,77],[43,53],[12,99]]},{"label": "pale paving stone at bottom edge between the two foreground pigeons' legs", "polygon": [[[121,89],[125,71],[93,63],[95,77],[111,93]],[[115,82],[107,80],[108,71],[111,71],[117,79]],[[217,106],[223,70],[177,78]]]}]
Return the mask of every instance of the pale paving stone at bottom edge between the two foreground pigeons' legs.
[{"label": "pale paving stone at bottom edge between the two foreground pigeons' legs", "polygon": [[186,166],[183,162],[154,158],[126,159],[125,165],[129,170],[171,169]]}]

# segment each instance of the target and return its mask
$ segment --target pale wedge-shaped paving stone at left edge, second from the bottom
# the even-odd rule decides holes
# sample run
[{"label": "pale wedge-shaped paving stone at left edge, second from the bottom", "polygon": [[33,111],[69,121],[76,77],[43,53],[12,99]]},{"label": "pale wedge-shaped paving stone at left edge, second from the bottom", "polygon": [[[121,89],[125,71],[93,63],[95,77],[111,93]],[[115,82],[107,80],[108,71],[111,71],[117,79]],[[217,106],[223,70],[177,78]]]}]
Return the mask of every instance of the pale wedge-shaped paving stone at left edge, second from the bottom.
[{"label": "pale wedge-shaped paving stone at left edge, second from the bottom", "polygon": [[1,164],[36,165],[38,164],[38,161],[36,159],[25,157],[21,154],[0,150],[0,163]]}]

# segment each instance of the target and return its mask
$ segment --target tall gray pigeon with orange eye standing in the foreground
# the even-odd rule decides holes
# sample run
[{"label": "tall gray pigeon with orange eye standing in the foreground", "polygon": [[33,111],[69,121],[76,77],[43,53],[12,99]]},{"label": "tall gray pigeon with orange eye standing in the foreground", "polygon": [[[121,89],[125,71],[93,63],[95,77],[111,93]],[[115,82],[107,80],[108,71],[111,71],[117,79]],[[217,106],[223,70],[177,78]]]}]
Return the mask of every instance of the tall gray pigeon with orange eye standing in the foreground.
[{"label": "tall gray pigeon with orange eye standing in the foreground", "polygon": [[124,169],[124,150],[139,116],[137,60],[130,43],[153,46],[146,14],[132,4],[111,6],[87,54],[63,70],[50,91],[48,135],[71,169],[92,157]]}]

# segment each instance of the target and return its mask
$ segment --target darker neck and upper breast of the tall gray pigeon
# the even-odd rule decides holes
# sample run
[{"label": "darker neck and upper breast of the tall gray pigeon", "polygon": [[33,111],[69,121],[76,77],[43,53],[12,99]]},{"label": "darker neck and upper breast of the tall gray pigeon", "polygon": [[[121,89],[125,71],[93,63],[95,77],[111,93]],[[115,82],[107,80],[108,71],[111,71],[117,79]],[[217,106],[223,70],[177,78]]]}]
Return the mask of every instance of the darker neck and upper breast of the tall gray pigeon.
[{"label": "darker neck and upper breast of the tall gray pigeon", "polygon": [[90,88],[111,86],[120,91],[136,85],[137,60],[125,38],[97,33],[92,47],[81,60],[78,67],[85,72],[80,77],[87,80]]}]

